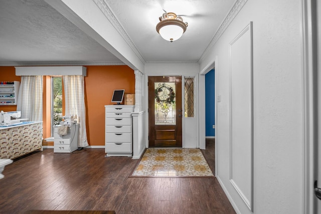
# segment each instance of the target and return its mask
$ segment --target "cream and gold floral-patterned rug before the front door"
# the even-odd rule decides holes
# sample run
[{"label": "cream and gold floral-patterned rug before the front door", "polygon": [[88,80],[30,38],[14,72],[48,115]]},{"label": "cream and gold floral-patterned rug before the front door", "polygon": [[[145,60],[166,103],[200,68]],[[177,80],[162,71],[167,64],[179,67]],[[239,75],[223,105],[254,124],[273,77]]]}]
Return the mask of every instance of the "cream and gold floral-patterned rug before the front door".
[{"label": "cream and gold floral-patterned rug before the front door", "polygon": [[200,149],[147,148],[130,177],[212,176]]}]

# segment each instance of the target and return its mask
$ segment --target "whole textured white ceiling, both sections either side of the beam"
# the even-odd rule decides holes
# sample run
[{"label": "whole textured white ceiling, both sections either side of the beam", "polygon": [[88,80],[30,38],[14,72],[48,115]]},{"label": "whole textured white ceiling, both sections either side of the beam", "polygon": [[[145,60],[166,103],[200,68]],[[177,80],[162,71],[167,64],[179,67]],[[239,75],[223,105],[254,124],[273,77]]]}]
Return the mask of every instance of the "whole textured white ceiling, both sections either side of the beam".
[{"label": "whole textured white ceiling, both sections either side of the beam", "polygon": [[[82,0],[83,1],[83,0]],[[97,1],[97,0],[95,0]],[[235,0],[101,0],[141,59],[198,62]],[[122,64],[43,0],[0,0],[0,65]],[[166,10],[182,15],[187,31],[170,43],[155,30]]]}]

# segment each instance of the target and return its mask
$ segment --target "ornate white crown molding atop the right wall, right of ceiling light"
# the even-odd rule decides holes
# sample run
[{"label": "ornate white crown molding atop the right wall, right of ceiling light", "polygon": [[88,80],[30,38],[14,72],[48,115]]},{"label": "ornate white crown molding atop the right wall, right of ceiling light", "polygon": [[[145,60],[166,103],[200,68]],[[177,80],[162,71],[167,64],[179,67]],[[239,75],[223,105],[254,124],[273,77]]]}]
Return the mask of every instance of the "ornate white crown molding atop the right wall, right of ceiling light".
[{"label": "ornate white crown molding atop the right wall, right of ceiling light", "polygon": [[213,46],[216,44],[216,42],[220,39],[220,37],[223,35],[225,30],[229,27],[229,25],[232,23],[236,15],[241,11],[243,6],[247,0],[236,0],[233,7],[231,8],[228,15],[223,20],[222,24],[220,25],[219,29],[214,34],[214,37],[212,38],[210,44],[205,49],[204,53],[202,54],[199,62],[202,62],[205,58],[205,56],[208,54],[209,50],[213,48]]}]

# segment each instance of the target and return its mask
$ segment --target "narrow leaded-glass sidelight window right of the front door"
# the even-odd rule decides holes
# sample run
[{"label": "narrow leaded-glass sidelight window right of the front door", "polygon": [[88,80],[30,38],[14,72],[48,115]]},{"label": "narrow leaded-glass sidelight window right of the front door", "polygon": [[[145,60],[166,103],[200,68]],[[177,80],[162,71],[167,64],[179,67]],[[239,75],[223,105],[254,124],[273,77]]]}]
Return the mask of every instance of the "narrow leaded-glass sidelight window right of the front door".
[{"label": "narrow leaded-glass sidelight window right of the front door", "polygon": [[194,77],[184,78],[185,117],[194,117]]}]

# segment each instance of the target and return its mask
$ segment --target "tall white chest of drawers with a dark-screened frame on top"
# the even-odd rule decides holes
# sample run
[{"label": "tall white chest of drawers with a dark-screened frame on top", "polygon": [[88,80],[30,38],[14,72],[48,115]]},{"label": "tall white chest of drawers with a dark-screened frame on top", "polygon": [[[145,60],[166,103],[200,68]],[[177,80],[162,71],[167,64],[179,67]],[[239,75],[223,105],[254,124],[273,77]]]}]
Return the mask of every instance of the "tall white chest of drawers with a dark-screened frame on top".
[{"label": "tall white chest of drawers with a dark-screened frame on top", "polygon": [[132,156],[133,105],[105,106],[105,152],[109,156]]}]

